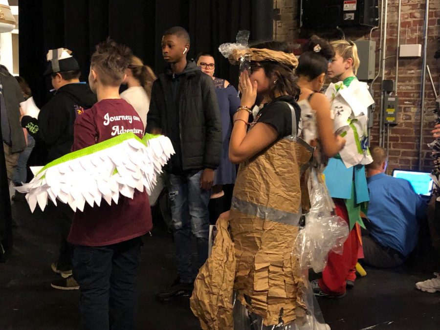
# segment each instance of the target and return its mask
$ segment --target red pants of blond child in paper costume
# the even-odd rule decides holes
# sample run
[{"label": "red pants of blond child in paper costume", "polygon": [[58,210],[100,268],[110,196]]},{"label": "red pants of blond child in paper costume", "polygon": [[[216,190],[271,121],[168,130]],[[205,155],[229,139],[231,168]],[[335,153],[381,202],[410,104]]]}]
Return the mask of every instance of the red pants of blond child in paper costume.
[{"label": "red pants of blond child in paper costume", "polygon": [[[343,200],[335,200],[336,214],[349,223],[347,208]],[[357,224],[356,224],[357,225]],[[345,293],[347,280],[356,279],[356,263],[360,243],[356,227],[350,231],[347,241],[344,243],[342,255],[334,252],[329,253],[327,266],[322,272],[322,279],[318,281],[324,293],[341,295]]]}]

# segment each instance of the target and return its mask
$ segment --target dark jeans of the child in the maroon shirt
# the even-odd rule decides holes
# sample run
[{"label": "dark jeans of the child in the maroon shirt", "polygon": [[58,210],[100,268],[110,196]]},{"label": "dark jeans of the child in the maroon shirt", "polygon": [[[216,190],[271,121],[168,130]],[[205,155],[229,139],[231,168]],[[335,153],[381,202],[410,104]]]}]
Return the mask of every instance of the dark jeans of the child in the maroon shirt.
[{"label": "dark jeans of the child in the maroon shirt", "polygon": [[74,245],[73,277],[85,330],[136,328],[136,273],[141,238],[106,246]]}]

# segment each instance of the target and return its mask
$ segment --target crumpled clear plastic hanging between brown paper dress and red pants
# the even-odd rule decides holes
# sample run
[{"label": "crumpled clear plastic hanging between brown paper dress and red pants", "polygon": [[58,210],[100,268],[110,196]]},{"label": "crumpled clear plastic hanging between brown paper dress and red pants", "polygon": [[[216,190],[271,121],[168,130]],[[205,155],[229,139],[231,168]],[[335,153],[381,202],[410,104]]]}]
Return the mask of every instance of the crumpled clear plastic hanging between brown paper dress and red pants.
[{"label": "crumpled clear plastic hanging between brown paper dress and red pants", "polygon": [[306,224],[298,233],[295,248],[301,269],[313,268],[321,272],[327,264],[330,251],[342,254],[343,244],[349,235],[345,220],[334,215],[334,204],[327,187],[316,169],[310,171],[308,180],[310,212]]}]

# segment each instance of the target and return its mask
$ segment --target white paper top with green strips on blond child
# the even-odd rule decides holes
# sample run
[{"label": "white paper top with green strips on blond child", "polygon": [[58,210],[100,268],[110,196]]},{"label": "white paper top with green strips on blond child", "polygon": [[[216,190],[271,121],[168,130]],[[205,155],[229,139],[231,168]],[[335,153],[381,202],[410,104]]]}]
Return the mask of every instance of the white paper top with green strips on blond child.
[{"label": "white paper top with green strips on blond child", "polygon": [[333,131],[347,143],[339,154],[347,168],[373,161],[368,149],[368,107],[374,103],[366,83],[354,79],[349,87],[343,82],[330,84],[326,96],[331,103]]}]

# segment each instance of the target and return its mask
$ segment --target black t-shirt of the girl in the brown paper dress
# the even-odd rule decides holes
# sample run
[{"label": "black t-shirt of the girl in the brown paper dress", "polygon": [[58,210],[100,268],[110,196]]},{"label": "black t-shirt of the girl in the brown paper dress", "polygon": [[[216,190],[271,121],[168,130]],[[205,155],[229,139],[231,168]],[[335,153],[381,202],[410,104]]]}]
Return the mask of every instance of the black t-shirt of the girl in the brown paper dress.
[{"label": "black t-shirt of the girl in the brown paper dress", "polygon": [[[296,127],[298,128],[298,122],[301,118],[301,108],[292,96],[280,96],[266,103],[256,118],[259,123],[266,123],[273,126],[278,132],[278,138],[285,137],[292,133],[292,111],[286,102],[290,103],[293,109],[295,109]],[[295,135],[297,132],[295,132]]]}]

